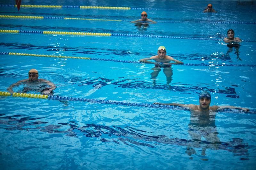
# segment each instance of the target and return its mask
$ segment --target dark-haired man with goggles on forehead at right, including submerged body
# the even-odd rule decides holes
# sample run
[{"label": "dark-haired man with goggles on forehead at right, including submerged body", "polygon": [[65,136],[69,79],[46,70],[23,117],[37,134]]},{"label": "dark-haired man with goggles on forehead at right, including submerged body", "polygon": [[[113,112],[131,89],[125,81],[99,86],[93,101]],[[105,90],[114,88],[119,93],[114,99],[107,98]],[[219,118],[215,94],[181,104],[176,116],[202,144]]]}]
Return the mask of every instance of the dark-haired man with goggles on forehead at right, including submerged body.
[{"label": "dark-haired man with goggles on forehead at right, including submerged body", "polygon": [[228,37],[224,38],[224,42],[227,43],[227,47],[228,47],[227,55],[229,56],[229,53],[232,51],[234,47],[236,50],[235,51],[236,58],[238,60],[241,60],[241,58],[239,57],[239,47],[240,47],[240,42],[242,42],[242,40],[238,37],[235,38],[235,32],[232,29],[229,29],[227,34],[228,34]]}]

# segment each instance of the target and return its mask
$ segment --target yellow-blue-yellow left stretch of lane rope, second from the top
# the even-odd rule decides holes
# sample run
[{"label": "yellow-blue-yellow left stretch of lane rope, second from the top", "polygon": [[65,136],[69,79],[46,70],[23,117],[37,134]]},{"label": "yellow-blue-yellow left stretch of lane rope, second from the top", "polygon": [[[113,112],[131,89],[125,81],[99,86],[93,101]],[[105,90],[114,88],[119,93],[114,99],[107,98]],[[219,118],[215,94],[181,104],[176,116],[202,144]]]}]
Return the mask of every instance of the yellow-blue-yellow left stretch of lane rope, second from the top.
[{"label": "yellow-blue-yellow left stretch of lane rope, second from the top", "polygon": [[89,18],[68,18],[68,17],[42,17],[42,16],[24,16],[24,15],[0,15],[0,18],[26,18],[26,19],[73,19],[90,21],[122,21],[115,19],[89,19]]}]

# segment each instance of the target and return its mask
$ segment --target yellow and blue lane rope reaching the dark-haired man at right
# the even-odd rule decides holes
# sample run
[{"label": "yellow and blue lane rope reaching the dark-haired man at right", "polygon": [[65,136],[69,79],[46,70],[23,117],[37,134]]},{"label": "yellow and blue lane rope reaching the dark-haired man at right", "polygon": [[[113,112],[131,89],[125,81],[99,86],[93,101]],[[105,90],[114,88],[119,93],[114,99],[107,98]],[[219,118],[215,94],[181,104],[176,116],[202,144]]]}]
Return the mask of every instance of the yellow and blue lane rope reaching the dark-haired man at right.
[{"label": "yellow and blue lane rope reaching the dark-haired man at right", "polygon": [[[32,31],[32,30],[0,30],[0,33],[39,33],[39,34],[59,34],[59,35],[87,35],[87,36],[119,36],[119,37],[147,37],[147,38],[172,38],[187,40],[212,40],[223,41],[215,38],[192,38],[192,37],[175,37],[162,35],[143,35],[143,34],[125,34],[125,33],[87,33],[87,32],[66,32],[66,31]],[[256,42],[253,40],[243,40],[245,42]]]}]

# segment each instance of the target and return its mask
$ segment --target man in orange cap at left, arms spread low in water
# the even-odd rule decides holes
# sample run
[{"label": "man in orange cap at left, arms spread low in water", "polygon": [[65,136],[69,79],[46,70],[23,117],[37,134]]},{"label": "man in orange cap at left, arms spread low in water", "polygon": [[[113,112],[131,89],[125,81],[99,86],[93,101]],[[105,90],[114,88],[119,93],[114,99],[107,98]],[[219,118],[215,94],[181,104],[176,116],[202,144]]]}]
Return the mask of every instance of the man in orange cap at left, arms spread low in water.
[{"label": "man in orange cap at left, arms spread low in water", "polygon": [[20,91],[22,93],[27,93],[29,91],[40,92],[41,94],[48,95],[52,94],[52,91],[56,89],[56,86],[49,80],[39,78],[38,71],[36,69],[31,69],[28,71],[28,79],[20,80],[12,85],[10,85],[7,90],[13,93],[12,88],[15,86],[24,85],[23,89]]}]

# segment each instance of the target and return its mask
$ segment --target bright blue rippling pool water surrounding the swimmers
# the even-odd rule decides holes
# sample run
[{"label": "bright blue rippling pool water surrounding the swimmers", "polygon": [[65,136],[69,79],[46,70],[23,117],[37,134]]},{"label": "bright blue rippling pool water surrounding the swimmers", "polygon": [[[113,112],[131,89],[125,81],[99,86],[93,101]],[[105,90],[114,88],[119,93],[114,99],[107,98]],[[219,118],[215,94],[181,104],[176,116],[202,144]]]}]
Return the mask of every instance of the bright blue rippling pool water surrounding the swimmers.
[{"label": "bright blue rippling pool water surrounding the swimmers", "polygon": [[[212,145],[202,137],[202,143],[192,144],[189,124],[193,117],[189,111],[150,105],[153,102],[198,104],[198,94],[207,90],[212,94],[211,105],[256,108],[255,66],[250,66],[256,63],[256,34],[252,32],[256,26],[253,24],[255,2],[213,1],[213,8],[218,12],[202,13],[208,3],[69,1],[56,5],[138,9],[21,7],[20,12],[15,7],[0,6],[0,15],[45,17],[0,18],[1,30],[24,31],[0,33],[0,91],[27,78],[28,70],[36,68],[40,78],[57,86],[55,96],[73,98],[1,96],[1,167],[253,169],[256,114],[235,110],[217,113],[211,119],[221,143]],[[45,1],[22,1],[22,4],[43,5]],[[230,11],[230,6],[238,11]],[[158,23],[148,27],[130,23],[140,18],[142,11],[147,11],[148,18]],[[238,51],[221,41],[230,28],[235,30],[236,37],[244,40]],[[110,33],[111,36],[41,31]],[[184,62],[172,66],[172,80],[168,85],[163,70],[154,82],[150,79],[153,65],[137,63],[139,59],[156,55],[160,45],[166,47],[167,55]],[[6,55],[6,52],[33,55]],[[203,64],[197,65],[200,63]],[[193,150],[188,151],[188,145]]]}]

